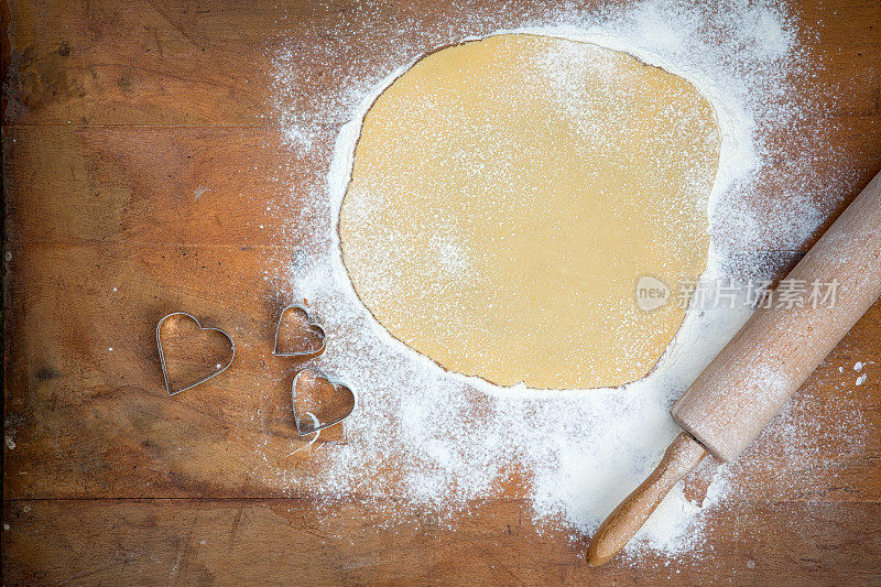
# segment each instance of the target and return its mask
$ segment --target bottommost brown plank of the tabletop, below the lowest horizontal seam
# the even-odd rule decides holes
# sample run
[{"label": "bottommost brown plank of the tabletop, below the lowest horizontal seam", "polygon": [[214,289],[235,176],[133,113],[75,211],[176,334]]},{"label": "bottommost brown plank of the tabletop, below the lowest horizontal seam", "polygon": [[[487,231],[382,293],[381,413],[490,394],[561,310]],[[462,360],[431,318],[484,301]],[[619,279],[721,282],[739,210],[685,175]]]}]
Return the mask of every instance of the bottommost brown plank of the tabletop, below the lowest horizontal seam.
[{"label": "bottommost brown plank of the tabletop, below the lowest horizontal seam", "polygon": [[711,544],[675,565],[646,553],[638,569],[620,557],[590,568],[584,544],[540,534],[519,500],[475,503],[453,528],[414,515],[395,532],[377,528],[381,510],[308,499],[17,500],[3,519],[10,584],[796,586],[881,573],[879,503],[737,503]]}]

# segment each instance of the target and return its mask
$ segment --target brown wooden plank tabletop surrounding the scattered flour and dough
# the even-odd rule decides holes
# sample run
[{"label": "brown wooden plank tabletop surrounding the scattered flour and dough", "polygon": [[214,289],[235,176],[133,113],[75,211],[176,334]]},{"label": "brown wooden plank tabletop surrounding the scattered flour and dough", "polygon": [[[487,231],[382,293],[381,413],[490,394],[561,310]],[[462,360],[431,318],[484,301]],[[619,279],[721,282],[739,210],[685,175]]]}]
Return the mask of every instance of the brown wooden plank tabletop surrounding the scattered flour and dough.
[{"label": "brown wooden plank tabletop surrounding the scattered flour and dough", "polygon": [[[881,303],[800,393],[796,434],[748,456],[706,543],[673,562],[589,568],[584,541],[539,532],[515,487],[454,524],[416,512],[381,530],[382,500],[261,475],[254,446],[281,459],[294,434],[276,377],[293,367],[271,355],[290,286],[264,276],[302,249],[286,218],[344,122],[322,116],[322,84],[382,62],[362,35],[487,10],[500,8],[3,2],[4,583],[881,584]],[[881,3],[792,12],[829,97],[808,116],[852,171],[828,224],[881,169]],[[290,98],[315,123],[320,148],[304,153],[272,116],[272,58],[328,35],[349,50],[302,63],[312,85]],[[239,355],[171,401],[153,327],[176,309],[235,330]],[[860,387],[857,361],[875,361]],[[262,399],[241,393],[257,385]]]}]

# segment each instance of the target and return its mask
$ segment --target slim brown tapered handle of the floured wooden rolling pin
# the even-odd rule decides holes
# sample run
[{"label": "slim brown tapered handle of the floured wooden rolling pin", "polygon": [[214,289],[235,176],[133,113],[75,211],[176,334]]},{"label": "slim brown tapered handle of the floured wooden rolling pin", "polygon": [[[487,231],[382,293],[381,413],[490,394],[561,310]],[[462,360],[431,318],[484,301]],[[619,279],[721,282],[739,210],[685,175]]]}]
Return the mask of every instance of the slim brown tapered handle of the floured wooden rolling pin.
[{"label": "slim brown tapered handle of the floured wooden rolling pin", "polygon": [[587,548],[587,564],[608,563],[633,537],[661,500],[685,477],[707,450],[689,434],[683,432],[664,452],[654,471],[599,526]]}]

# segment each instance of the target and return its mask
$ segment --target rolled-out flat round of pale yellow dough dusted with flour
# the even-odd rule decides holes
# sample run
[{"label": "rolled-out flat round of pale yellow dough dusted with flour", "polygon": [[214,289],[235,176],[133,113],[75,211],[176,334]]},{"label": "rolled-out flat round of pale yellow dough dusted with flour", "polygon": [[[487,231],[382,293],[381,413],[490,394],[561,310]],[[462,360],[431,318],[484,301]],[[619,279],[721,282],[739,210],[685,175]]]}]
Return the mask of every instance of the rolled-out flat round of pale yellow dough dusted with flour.
[{"label": "rolled-out flat round of pale yellow dough dusted with flour", "polygon": [[503,34],[437,51],[365,117],[339,217],[356,292],[398,339],[501,385],[648,374],[695,282],[719,157],[688,81],[590,43]]}]

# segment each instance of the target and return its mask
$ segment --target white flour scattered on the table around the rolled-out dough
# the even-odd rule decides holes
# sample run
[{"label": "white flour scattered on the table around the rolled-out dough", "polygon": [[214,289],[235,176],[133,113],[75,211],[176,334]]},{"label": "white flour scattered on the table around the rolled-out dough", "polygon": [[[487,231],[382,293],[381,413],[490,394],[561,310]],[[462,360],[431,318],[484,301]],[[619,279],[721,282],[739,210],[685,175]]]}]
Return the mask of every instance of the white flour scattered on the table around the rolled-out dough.
[{"label": "white flour scattered on the table around the rolled-out dough", "polygon": [[[285,238],[295,238],[302,254],[292,264],[280,261],[276,286],[306,300],[322,316],[329,343],[318,363],[350,383],[359,403],[345,422],[345,444],[300,454],[313,459],[314,475],[276,465],[263,445],[257,447],[263,464],[258,474],[289,492],[309,488],[368,501],[405,498],[407,506],[384,512],[389,524],[406,519],[407,507],[443,518],[467,510],[469,500],[524,497],[540,525],[568,529],[577,539],[591,534],[657,463],[678,432],[670,405],[749,309],[746,304],[695,308],[657,369],[621,389],[500,389],[443,371],[376,323],[341,264],[337,214],[361,118],[372,99],[429,51],[502,31],[592,41],[685,77],[710,99],[722,130],[707,279],[777,274],[791,259],[762,257],[757,249],[802,247],[853,177],[847,171],[829,176],[828,170],[819,177],[815,171],[837,155],[824,129],[805,122],[812,109],[807,64],[817,66],[822,59],[805,54],[800,37],[811,32],[800,30],[776,2],[722,1],[709,8],[649,0],[594,12],[575,6],[498,10],[457,20],[432,13],[431,22],[403,12],[394,26],[355,10],[339,30],[316,29],[283,43],[275,70],[279,121],[292,155],[309,170],[325,170],[326,176],[297,176],[292,188],[292,208],[303,211],[290,219]],[[328,70],[328,64],[338,69]],[[565,85],[565,69],[559,75]],[[779,129],[791,134],[783,146],[774,143]],[[787,156],[784,163],[776,159],[781,152]],[[768,193],[779,196],[769,198]],[[757,204],[765,200],[769,206]],[[466,267],[467,252],[456,236],[440,240],[438,265],[449,271]],[[705,498],[689,500],[683,488],[674,490],[626,555],[632,558],[646,548],[675,555],[697,547],[707,512],[738,493],[739,476],[768,463],[775,475],[785,474],[785,457],[794,454],[774,450],[809,449],[804,438],[811,416],[805,414],[812,409],[791,402],[740,463],[716,472],[704,469]],[[859,414],[840,411],[851,415],[850,425],[826,434],[838,441],[848,435],[853,438],[848,446],[859,450]]]}]

